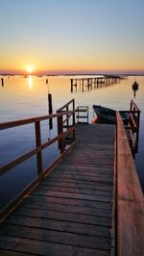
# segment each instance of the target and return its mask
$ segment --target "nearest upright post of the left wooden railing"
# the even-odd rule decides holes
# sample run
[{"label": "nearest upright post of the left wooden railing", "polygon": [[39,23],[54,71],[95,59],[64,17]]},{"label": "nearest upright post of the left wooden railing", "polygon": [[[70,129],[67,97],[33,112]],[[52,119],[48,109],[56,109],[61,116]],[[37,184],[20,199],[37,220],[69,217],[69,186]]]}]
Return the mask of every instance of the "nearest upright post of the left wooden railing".
[{"label": "nearest upright post of the left wooden railing", "polygon": [[[36,147],[41,145],[41,135],[40,135],[40,122],[35,122],[36,129]],[[42,172],[42,154],[41,151],[36,154],[36,162],[37,162],[37,174],[39,175]]]}]

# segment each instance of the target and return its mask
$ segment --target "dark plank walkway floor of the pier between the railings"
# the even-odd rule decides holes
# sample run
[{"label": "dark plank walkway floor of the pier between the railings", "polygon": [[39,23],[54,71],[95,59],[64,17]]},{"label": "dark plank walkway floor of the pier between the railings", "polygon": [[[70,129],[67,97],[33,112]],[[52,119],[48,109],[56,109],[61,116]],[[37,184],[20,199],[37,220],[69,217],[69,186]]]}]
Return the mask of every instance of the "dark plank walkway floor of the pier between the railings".
[{"label": "dark plank walkway floor of the pier between the railings", "polygon": [[1,224],[0,255],[110,255],[114,125],[79,124],[76,145]]}]

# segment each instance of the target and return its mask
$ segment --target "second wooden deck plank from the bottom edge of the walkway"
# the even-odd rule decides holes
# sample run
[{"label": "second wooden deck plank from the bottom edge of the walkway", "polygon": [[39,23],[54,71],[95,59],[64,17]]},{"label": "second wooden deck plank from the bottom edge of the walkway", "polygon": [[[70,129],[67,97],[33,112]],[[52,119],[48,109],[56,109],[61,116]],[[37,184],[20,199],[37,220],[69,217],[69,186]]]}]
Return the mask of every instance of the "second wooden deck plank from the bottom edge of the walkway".
[{"label": "second wooden deck plank from the bottom edge of the walkway", "polygon": [[[10,226],[9,226],[10,228]],[[3,231],[3,236],[7,235],[6,232]],[[49,230],[49,235],[47,230],[39,229],[39,228],[32,228],[32,227],[23,227],[21,226],[11,226],[9,229],[9,236],[18,236],[18,238],[29,239],[42,242],[50,242],[50,243],[61,243],[67,245],[74,245],[86,248],[95,248],[95,249],[110,249],[110,240],[108,238],[102,237],[95,237],[95,236],[87,236],[84,234],[76,234],[76,233],[68,233],[68,232],[58,232],[54,230]]]}]

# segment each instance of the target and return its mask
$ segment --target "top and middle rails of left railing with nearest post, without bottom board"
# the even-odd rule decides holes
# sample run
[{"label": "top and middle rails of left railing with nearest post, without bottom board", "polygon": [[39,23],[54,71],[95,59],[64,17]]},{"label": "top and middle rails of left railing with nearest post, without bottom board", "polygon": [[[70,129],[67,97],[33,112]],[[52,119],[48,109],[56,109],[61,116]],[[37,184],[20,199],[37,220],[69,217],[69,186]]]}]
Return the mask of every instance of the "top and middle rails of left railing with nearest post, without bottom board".
[{"label": "top and middle rails of left railing with nearest post, without bottom board", "polygon": [[[53,138],[52,140],[41,144],[40,121],[57,117],[58,122],[59,122],[59,120],[62,118],[63,115],[73,115],[73,113],[74,113],[74,111],[68,111],[68,112],[62,112],[62,113],[58,113],[58,114],[54,114],[54,115],[42,115],[42,116],[36,116],[33,118],[27,118],[27,119],[21,119],[21,120],[16,120],[16,121],[11,121],[11,122],[0,123],[0,130],[9,129],[9,128],[13,128],[13,127],[21,126],[21,125],[30,124],[30,123],[35,124],[35,130],[36,130],[36,148],[34,148],[33,150],[27,152],[26,154],[18,157],[17,159],[13,160],[11,163],[9,163],[5,166],[1,166],[0,167],[0,175],[4,174],[8,170],[12,169],[14,166],[17,166],[17,165],[25,162],[26,160],[28,160],[29,158],[31,158],[34,155],[36,155],[37,174],[39,175],[42,172],[41,151],[44,148],[46,148],[47,146],[49,146],[50,144],[54,143],[55,141],[59,141],[59,140],[63,141],[63,137],[65,135],[67,135],[68,133],[71,133],[75,130],[75,127],[72,126],[71,128],[67,129],[66,132],[61,131],[59,133],[59,135],[56,136],[55,138]],[[62,124],[60,124],[60,126],[61,125]],[[61,146],[63,147],[63,144]],[[64,148],[62,148],[62,150],[63,149]],[[60,153],[61,152],[62,151],[60,150]]]}]

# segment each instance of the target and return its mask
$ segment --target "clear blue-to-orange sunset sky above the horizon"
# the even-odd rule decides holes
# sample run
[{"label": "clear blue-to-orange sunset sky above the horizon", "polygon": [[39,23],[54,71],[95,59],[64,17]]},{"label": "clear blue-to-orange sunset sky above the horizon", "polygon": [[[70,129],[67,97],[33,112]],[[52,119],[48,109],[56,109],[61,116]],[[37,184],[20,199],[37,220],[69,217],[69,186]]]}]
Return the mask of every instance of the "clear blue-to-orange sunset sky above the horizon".
[{"label": "clear blue-to-orange sunset sky above the horizon", "polygon": [[144,0],[0,0],[0,72],[143,72]]}]

